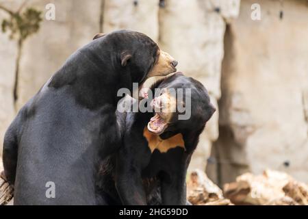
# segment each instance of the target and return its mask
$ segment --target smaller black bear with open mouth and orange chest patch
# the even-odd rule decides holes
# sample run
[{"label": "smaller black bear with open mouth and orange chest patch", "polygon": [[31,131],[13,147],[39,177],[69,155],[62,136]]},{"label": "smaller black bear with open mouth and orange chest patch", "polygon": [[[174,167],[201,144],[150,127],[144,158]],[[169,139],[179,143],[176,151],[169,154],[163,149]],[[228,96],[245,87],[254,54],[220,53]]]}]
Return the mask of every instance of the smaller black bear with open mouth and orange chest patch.
[{"label": "smaller black bear with open mouth and orange chest patch", "polygon": [[[182,73],[157,81],[152,93],[156,88],[161,92],[149,99],[155,112],[128,113],[124,146],[101,164],[97,187],[107,204],[186,204],[190,158],[216,109],[204,86]],[[188,110],[189,118],[180,119]]]}]

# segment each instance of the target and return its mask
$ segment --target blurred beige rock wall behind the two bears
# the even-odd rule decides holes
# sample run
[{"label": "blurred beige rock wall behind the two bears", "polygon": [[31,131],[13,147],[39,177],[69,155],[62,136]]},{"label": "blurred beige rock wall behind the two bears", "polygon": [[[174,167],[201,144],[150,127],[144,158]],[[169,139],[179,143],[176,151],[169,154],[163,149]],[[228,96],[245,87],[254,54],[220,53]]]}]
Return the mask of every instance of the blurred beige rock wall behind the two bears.
[{"label": "blurred beige rock wall behind the two bears", "polygon": [[0,0],[0,22],[1,151],[16,112],[71,53],[98,32],[132,29],[218,108],[190,170],[220,186],[266,168],[308,183],[308,1]]}]

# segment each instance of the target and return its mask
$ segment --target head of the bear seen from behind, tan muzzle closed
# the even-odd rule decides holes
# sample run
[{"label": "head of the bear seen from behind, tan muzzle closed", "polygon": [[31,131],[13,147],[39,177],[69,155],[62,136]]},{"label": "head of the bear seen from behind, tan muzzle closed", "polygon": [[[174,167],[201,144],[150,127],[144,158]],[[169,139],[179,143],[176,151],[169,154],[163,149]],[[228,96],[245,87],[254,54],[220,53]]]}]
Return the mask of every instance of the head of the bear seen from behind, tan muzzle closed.
[{"label": "head of the bear seen from behind, tan muzzle closed", "polygon": [[111,47],[120,70],[128,70],[130,82],[142,83],[153,76],[174,73],[177,61],[159,49],[157,44],[137,31],[120,30],[110,34],[97,34],[93,40],[101,40]]}]

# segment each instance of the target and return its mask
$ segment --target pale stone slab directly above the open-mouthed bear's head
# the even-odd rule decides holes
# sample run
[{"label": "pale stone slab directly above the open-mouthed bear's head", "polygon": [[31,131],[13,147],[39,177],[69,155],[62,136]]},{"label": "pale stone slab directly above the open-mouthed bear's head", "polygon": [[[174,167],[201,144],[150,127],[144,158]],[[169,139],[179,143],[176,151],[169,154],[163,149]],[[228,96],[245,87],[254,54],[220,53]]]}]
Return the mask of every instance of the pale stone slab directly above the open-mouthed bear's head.
[{"label": "pale stone slab directly above the open-mouthed bear's head", "polygon": [[159,10],[162,49],[179,60],[178,70],[197,77],[216,98],[220,97],[224,28],[222,16],[207,1],[171,0]]}]

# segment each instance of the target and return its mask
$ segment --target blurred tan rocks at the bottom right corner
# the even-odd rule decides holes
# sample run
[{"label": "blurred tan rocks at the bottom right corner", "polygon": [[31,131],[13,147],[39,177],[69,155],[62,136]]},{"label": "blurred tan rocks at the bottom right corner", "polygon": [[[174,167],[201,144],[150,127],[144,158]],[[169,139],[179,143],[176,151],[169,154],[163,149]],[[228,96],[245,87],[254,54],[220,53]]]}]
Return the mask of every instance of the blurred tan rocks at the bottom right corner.
[{"label": "blurred tan rocks at the bottom right corner", "polygon": [[224,185],[224,196],[235,205],[308,205],[308,186],[285,172],[246,173]]}]

